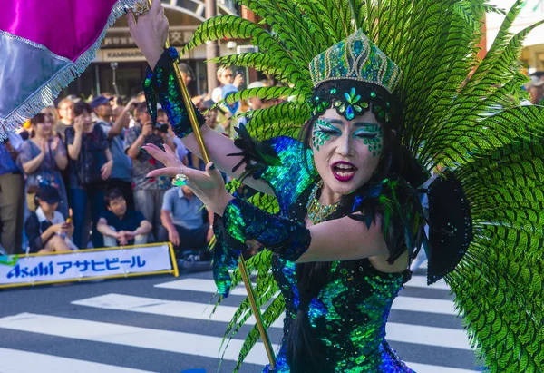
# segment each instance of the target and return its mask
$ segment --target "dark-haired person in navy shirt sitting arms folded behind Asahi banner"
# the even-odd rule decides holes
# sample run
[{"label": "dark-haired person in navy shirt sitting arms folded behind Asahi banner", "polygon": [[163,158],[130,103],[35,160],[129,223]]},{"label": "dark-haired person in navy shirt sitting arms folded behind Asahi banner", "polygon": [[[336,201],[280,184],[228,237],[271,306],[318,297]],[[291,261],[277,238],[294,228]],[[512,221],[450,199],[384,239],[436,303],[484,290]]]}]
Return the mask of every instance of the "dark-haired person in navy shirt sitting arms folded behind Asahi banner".
[{"label": "dark-haired person in navy shirt sitting arms folded behind Asahi banner", "polygon": [[122,191],[115,188],[106,192],[107,211],[102,212],[97,230],[104,236],[104,246],[142,245],[147,243],[151,223],[140,211],[127,210]]}]

